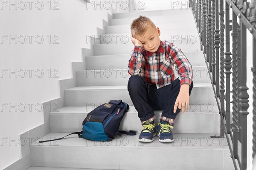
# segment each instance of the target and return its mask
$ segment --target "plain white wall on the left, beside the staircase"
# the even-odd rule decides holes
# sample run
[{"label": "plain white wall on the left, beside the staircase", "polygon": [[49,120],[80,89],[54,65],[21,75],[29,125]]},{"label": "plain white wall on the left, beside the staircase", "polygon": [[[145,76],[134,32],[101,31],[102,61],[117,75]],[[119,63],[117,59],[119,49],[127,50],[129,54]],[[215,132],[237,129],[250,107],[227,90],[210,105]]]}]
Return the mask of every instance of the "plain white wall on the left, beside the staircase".
[{"label": "plain white wall on the left, beside the staircase", "polygon": [[[16,3],[17,9],[9,6],[9,2]],[[81,62],[81,48],[90,48],[90,44],[86,43],[86,36],[97,35],[96,27],[103,28],[103,20],[108,20],[108,13],[112,14],[112,10],[108,9],[109,4],[95,6],[95,1],[92,1],[92,6],[87,6],[84,0],[51,1],[50,9],[48,1],[40,1],[44,5],[41,10],[41,3],[38,1],[31,3],[31,10],[29,3],[23,2],[25,3],[1,0],[0,34],[3,42],[0,44],[0,66],[3,75],[0,82],[0,135],[1,142],[6,138],[8,142],[3,142],[0,146],[0,169],[21,158],[18,135],[44,123],[40,106],[60,97],[58,80],[72,78],[71,62]],[[54,7],[58,9],[53,10]],[[120,7],[117,7],[119,11]],[[11,35],[12,38],[17,35],[20,39],[17,38],[16,43],[15,40],[9,43],[9,40],[5,40],[5,35]],[[31,43],[28,35],[34,36]],[[35,41],[37,35],[44,38],[41,44],[38,43],[40,38],[38,42]],[[47,38],[49,35],[50,43]],[[23,37],[27,38],[25,43]],[[54,44],[54,40],[58,44]],[[4,74],[6,70],[15,72],[15,69],[17,77],[15,74]],[[34,69],[31,77],[28,69]],[[42,77],[38,69],[44,74]],[[24,73],[26,76],[23,78]],[[15,106],[15,103],[17,107],[9,111],[10,106]],[[31,110],[27,103],[33,103]],[[38,108],[35,108],[36,104]],[[24,105],[26,109],[23,108]],[[14,142],[9,144],[10,140]]]}]

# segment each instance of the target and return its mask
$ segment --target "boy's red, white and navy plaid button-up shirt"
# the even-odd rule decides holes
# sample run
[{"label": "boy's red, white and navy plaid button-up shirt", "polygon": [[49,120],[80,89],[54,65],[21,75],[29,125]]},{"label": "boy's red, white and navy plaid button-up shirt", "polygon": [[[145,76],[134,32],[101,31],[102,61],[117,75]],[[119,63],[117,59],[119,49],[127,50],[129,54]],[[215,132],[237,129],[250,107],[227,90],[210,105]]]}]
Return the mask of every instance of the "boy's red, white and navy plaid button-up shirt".
[{"label": "boy's red, white and navy plaid button-up shirt", "polygon": [[159,48],[154,53],[135,45],[129,59],[128,73],[144,77],[149,84],[162,88],[175,80],[174,68],[179,75],[180,85],[191,85],[193,75],[189,60],[173,43],[160,41]]}]

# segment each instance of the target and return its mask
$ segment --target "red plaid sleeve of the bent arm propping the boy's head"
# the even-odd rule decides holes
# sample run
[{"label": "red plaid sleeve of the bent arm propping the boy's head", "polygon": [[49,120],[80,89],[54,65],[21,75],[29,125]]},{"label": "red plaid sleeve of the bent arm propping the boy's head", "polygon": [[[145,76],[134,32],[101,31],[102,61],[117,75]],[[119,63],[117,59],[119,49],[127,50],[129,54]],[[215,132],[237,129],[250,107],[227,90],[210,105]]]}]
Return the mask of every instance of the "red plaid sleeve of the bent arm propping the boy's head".
[{"label": "red plaid sleeve of the bent arm propping the boy's head", "polygon": [[128,63],[128,73],[131,76],[140,76],[141,75],[141,65],[142,65],[142,50],[141,46],[134,46],[134,49],[131,52],[131,57]]}]

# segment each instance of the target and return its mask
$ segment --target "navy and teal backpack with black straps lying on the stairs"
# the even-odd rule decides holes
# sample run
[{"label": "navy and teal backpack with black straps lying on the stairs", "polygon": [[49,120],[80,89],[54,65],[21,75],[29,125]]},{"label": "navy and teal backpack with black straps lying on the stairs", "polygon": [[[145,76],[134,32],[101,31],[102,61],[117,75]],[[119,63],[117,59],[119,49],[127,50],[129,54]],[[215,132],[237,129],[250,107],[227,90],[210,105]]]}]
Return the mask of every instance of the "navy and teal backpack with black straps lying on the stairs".
[{"label": "navy and teal backpack with black straps lying on the stairs", "polygon": [[[116,134],[121,136],[121,133],[135,135],[136,132],[134,130],[130,130],[130,132],[118,131],[120,122],[129,108],[129,105],[122,102],[122,100],[111,100],[108,103],[104,103],[87,114],[82,124],[83,131],[70,133],[69,135],[78,134],[79,138],[92,141],[111,141]],[[64,137],[39,142],[55,141]]]}]

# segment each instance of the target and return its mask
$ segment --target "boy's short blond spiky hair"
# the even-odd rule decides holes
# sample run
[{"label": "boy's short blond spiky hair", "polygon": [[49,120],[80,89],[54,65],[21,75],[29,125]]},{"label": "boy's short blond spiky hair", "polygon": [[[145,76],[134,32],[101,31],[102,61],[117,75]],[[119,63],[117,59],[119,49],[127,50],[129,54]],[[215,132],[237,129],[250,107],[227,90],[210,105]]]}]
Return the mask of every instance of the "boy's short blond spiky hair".
[{"label": "boy's short blond spiky hair", "polygon": [[142,36],[145,34],[149,27],[156,28],[155,24],[145,16],[140,15],[137,19],[133,20],[131,24],[131,35],[132,37]]}]

